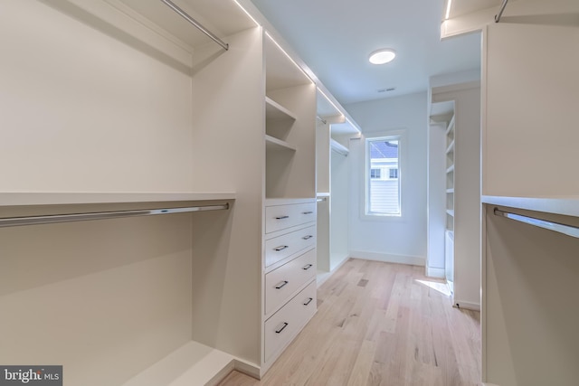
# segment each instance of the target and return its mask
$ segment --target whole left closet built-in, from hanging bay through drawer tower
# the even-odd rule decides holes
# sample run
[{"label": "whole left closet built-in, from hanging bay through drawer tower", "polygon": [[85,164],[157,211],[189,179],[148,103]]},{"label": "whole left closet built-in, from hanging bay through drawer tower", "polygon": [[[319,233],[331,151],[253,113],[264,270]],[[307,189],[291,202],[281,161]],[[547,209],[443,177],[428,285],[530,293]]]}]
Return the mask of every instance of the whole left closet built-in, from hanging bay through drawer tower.
[{"label": "whole left closet built-in, from hanging bay through drawer tower", "polygon": [[0,218],[139,213],[0,227],[4,364],[260,377],[316,310],[316,86],[235,2],[175,4],[227,49],[157,0],[0,4]]}]

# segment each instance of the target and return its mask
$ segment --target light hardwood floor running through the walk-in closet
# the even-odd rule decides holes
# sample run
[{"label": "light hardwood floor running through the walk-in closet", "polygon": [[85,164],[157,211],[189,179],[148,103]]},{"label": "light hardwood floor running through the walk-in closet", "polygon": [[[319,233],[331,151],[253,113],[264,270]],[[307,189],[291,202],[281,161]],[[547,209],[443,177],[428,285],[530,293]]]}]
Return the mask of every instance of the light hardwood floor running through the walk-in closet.
[{"label": "light hardwood floor running through the walk-in closet", "polygon": [[221,386],[470,386],[480,380],[479,313],[453,308],[423,267],[350,259],[318,289],[318,313],[261,381]]}]

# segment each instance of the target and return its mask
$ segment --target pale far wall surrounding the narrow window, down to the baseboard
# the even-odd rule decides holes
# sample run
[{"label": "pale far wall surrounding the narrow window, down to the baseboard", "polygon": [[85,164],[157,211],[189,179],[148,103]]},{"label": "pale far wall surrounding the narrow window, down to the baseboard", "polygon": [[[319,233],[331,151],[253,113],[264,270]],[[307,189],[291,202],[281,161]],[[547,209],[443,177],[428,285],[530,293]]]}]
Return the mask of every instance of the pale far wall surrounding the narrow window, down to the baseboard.
[{"label": "pale far wall surrounding the narrow window, down to the baseboard", "polygon": [[[350,255],[423,265],[426,257],[426,92],[346,106],[362,127],[350,141]],[[402,149],[402,218],[369,220],[363,216],[365,135],[405,130]],[[406,151],[404,151],[406,150]]]}]

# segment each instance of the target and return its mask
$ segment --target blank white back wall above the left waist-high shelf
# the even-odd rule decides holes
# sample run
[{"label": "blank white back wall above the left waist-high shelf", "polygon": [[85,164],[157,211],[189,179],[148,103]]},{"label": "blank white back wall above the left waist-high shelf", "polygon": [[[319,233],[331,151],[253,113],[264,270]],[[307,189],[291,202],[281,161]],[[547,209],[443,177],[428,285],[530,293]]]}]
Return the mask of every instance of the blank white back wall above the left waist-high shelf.
[{"label": "blank white back wall above the left waist-high shelf", "polygon": [[2,2],[0,46],[0,190],[191,190],[188,75],[37,2]]}]

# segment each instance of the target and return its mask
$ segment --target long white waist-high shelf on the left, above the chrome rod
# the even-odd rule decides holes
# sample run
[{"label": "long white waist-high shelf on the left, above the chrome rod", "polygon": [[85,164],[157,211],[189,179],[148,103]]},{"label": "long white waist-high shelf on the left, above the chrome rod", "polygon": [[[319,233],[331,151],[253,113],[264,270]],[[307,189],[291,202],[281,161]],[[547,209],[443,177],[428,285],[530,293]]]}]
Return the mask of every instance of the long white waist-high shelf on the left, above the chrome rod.
[{"label": "long white waist-high shelf on the left, above the chrome rod", "polygon": [[235,193],[0,193],[0,207],[90,203],[192,202],[234,200]]}]

